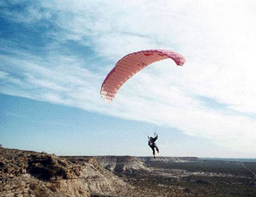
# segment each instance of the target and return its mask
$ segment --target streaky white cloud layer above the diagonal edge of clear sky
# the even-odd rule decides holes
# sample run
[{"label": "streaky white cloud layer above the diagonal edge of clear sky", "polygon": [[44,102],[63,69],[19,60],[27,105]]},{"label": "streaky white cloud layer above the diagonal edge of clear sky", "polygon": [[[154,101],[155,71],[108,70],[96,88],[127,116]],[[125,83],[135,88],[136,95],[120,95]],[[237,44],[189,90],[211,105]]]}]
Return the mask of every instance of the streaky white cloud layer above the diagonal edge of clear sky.
[{"label": "streaky white cloud layer above the diagonal edge of clear sky", "polygon": [[[1,93],[172,126],[255,156],[254,1],[72,2],[1,3]],[[115,62],[150,48],[187,62],[157,62],[104,103]]]}]

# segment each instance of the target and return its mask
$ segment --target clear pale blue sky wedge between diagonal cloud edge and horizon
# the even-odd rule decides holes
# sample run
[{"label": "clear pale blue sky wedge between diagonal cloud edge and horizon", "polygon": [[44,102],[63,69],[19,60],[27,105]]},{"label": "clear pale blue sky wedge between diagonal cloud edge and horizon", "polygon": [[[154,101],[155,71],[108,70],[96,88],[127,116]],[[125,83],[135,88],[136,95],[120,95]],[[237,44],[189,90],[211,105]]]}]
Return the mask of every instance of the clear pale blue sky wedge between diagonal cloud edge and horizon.
[{"label": "clear pale blue sky wedge between diagonal cloud edge and horizon", "polygon": [[[52,105],[16,96],[0,95],[1,143],[5,147],[32,149],[65,155],[150,155],[147,135],[160,133],[162,147],[169,147],[166,155],[185,156],[198,154],[201,147],[208,149],[212,143],[202,144],[177,129],[156,126],[145,122],[129,121],[78,108]],[[198,145],[200,143],[200,146]],[[187,149],[188,151],[188,149]]]}]

